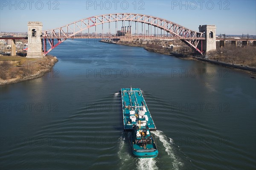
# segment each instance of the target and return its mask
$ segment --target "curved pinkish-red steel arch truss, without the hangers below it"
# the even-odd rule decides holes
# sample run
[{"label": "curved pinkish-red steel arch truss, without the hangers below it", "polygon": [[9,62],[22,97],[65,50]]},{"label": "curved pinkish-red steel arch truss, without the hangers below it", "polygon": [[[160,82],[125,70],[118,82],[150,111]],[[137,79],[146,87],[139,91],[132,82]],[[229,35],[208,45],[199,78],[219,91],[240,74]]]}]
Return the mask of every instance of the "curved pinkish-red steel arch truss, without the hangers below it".
[{"label": "curved pinkish-red steel arch truss, without the hangers below it", "polygon": [[[168,20],[164,20],[159,17],[153,17],[144,14],[131,14],[131,13],[116,13],[116,14],[104,14],[98,15],[94,17],[88,17],[82,20],[78,20],[76,22],[67,24],[66,26],[62,26],[59,28],[42,31],[43,39],[44,39],[44,55],[49,53],[53,48],[64,42],[69,38],[74,38],[77,34],[82,31],[97,26],[103,23],[110,23],[116,21],[135,21],[139,23],[149,24],[151,26],[155,26],[157,28],[163,29],[164,31],[173,35],[173,37],[182,40],[195,51],[198,51],[200,54],[203,53],[202,49],[198,49],[198,44],[200,40],[205,40],[203,37],[203,33],[192,31],[189,28],[180,26],[179,24],[173,23]],[[50,49],[47,51],[46,49],[46,39],[50,44]],[[58,43],[54,45],[54,39],[58,40]]]}]

